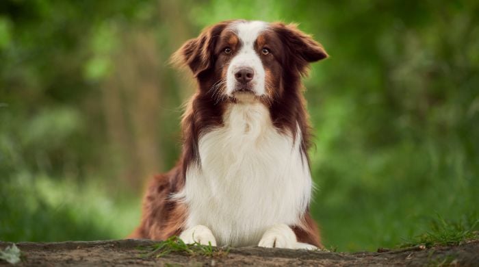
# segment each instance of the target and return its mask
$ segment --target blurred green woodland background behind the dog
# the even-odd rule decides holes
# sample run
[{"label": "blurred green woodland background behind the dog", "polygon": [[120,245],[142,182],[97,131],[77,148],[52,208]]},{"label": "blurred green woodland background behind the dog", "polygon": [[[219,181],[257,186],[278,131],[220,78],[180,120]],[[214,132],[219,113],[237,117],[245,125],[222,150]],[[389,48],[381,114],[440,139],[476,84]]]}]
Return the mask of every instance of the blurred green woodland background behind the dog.
[{"label": "blurred green woodland background behind the dog", "polygon": [[331,58],[307,87],[339,251],[477,218],[479,1],[0,2],[0,240],[124,238],[179,153],[191,75],[168,57],[224,19],[300,23]]}]

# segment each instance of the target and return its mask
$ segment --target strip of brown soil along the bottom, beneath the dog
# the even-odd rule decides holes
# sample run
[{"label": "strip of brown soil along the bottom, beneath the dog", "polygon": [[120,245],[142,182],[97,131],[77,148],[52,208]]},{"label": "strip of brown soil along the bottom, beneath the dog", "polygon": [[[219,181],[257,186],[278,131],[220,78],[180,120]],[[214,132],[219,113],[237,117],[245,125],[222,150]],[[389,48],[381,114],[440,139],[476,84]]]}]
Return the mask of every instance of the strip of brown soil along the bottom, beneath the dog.
[{"label": "strip of brown soil along the bottom, beneath the dog", "polygon": [[[10,245],[0,242],[0,249]],[[244,247],[216,257],[171,253],[145,255],[151,240],[92,242],[20,242],[18,266],[479,266],[479,240],[459,246],[415,246],[382,252],[334,253]],[[0,259],[0,266],[9,265]]]}]

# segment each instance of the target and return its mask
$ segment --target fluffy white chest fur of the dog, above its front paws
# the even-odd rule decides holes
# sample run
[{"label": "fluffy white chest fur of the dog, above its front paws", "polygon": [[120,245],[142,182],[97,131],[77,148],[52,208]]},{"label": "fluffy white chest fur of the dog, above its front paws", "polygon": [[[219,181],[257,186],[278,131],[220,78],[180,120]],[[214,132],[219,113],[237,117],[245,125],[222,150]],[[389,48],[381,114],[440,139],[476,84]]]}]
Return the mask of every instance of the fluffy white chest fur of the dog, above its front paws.
[{"label": "fluffy white chest fur of the dog, above its front paws", "polygon": [[186,227],[205,225],[218,245],[257,245],[272,225],[300,223],[311,175],[296,141],[272,125],[261,103],[237,103],[224,127],[199,140],[200,166],[187,169],[179,197],[189,207]]}]

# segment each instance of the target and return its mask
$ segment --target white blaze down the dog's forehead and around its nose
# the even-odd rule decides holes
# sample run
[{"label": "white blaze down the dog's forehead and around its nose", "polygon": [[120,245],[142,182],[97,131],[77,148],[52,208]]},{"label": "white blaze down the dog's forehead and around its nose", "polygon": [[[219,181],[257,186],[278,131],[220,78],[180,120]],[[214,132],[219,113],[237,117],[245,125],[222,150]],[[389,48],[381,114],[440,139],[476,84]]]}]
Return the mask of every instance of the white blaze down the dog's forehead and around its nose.
[{"label": "white blaze down the dog's forehead and around its nose", "polygon": [[265,90],[265,71],[259,55],[255,51],[255,41],[262,31],[267,29],[268,23],[263,21],[248,21],[233,23],[232,29],[236,32],[240,42],[241,49],[231,60],[226,73],[226,94],[231,96],[236,86],[235,73],[239,68],[253,68],[255,76],[253,77],[253,90],[255,94],[261,96],[266,94]]}]

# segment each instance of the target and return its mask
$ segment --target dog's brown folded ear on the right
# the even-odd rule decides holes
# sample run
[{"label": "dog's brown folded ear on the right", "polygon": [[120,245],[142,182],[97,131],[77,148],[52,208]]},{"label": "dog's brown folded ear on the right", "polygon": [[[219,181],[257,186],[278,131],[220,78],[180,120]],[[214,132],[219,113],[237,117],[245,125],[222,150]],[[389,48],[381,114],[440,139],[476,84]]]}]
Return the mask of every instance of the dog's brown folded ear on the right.
[{"label": "dog's brown folded ear on the right", "polygon": [[300,73],[305,74],[309,63],[328,58],[328,53],[322,44],[300,31],[296,24],[273,23],[272,25],[285,44],[288,61],[292,61],[288,63],[294,64]]}]

